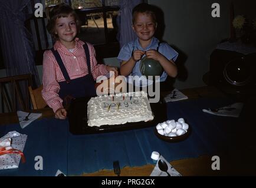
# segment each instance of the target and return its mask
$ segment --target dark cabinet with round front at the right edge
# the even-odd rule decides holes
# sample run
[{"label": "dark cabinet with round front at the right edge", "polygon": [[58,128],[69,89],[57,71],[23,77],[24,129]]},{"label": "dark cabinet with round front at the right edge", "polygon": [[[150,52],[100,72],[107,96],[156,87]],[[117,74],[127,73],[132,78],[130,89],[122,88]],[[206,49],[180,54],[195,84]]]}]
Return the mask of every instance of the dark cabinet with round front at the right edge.
[{"label": "dark cabinet with round front at the right edge", "polygon": [[229,93],[255,90],[255,63],[256,53],[215,49],[210,57],[209,84]]}]

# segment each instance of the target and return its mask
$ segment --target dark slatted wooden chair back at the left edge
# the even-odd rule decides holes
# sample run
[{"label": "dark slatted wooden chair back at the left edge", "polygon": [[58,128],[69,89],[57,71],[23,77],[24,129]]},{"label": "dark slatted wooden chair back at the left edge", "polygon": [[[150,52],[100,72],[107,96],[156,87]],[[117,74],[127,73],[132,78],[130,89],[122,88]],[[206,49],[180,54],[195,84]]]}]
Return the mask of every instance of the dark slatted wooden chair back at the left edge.
[{"label": "dark slatted wooden chair back at the left edge", "polygon": [[0,78],[2,112],[28,110],[30,104],[28,86],[31,84],[31,74]]}]

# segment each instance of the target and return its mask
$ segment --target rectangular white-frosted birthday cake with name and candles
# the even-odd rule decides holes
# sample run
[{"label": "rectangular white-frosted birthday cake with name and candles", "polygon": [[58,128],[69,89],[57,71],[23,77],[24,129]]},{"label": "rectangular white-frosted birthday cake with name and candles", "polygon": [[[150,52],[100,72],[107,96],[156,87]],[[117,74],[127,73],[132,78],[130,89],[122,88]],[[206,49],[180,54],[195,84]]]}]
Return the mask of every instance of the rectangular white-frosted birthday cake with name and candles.
[{"label": "rectangular white-frosted birthday cake with name and candles", "polygon": [[153,120],[143,91],[104,95],[91,98],[87,105],[88,126],[120,125]]}]

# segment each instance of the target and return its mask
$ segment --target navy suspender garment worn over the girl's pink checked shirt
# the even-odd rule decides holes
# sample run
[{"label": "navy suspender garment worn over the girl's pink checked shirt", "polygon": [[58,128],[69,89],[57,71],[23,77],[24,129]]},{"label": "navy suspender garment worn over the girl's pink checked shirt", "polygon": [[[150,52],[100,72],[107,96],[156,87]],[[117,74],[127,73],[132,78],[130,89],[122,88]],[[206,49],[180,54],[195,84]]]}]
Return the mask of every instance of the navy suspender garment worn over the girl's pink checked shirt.
[{"label": "navy suspender garment worn over the girl's pink checked shirt", "polygon": [[86,62],[88,67],[88,75],[76,78],[76,79],[70,79],[70,76],[68,75],[67,69],[65,69],[64,63],[61,59],[60,54],[57,50],[54,50],[51,48],[51,51],[53,55],[55,56],[58,65],[60,66],[61,72],[63,73],[63,76],[65,78],[65,81],[58,82],[60,85],[60,91],[58,92],[58,95],[61,99],[63,99],[63,105],[66,105],[68,100],[73,98],[80,98],[80,97],[93,97],[96,96],[96,89],[94,87],[95,81],[93,79],[93,76],[91,75],[91,65],[90,65],[90,53],[88,49],[87,43],[83,45],[84,52],[86,53]]}]

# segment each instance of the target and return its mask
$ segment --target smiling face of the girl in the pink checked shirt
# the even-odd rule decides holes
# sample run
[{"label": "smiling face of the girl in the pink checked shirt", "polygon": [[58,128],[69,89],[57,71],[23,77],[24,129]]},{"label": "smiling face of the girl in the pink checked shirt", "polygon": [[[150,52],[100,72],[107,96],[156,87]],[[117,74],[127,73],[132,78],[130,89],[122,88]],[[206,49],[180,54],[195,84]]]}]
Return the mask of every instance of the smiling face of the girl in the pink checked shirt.
[{"label": "smiling face of the girl in the pink checked shirt", "polygon": [[74,48],[74,38],[77,35],[77,24],[74,16],[68,15],[56,19],[55,32],[60,42],[67,48]]}]

